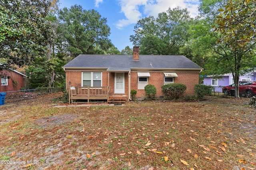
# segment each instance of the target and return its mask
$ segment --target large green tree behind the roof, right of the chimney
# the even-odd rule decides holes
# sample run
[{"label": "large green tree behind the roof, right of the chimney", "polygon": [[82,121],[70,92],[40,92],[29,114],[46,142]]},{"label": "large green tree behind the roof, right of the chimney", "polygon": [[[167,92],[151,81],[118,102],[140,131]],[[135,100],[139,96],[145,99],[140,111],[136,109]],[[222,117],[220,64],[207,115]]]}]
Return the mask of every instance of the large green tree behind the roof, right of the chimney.
[{"label": "large green tree behind the roof, right of the chimney", "polygon": [[188,39],[191,21],[187,9],[169,8],[157,18],[149,16],[139,20],[130,41],[140,46],[141,54],[177,55]]}]

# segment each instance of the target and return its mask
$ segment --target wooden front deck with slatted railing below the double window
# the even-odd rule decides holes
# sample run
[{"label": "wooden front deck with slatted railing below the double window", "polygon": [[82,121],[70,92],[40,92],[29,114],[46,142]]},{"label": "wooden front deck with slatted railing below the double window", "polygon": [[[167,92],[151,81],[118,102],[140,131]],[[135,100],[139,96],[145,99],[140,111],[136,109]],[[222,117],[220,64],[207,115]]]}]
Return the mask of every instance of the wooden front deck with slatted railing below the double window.
[{"label": "wooden front deck with slatted railing below the double window", "polygon": [[[68,104],[92,103],[90,100],[107,100],[109,98],[109,87],[71,87]],[[87,100],[87,102],[74,102],[74,100]]]}]

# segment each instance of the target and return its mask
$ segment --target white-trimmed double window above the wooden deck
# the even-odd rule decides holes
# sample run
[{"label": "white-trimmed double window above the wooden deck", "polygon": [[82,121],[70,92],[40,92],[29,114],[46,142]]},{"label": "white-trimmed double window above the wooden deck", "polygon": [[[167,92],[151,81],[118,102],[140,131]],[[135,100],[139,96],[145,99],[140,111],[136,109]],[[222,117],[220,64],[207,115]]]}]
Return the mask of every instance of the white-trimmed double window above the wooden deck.
[{"label": "white-trimmed double window above the wooden deck", "polygon": [[82,86],[101,87],[102,72],[82,72]]}]

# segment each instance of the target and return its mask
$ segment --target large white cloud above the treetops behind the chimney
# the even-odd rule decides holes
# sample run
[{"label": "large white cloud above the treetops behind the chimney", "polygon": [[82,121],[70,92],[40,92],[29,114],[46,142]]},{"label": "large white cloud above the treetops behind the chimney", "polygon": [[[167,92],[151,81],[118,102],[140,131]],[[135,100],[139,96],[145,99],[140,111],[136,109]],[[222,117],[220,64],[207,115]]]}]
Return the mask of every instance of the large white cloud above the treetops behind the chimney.
[{"label": "large white cloud above the treetops behind the chimney", "polygon": [[118,29],[122,29],[130,24],[137,23],[142,16],[157,17],[160,12],[165,12],[170,7],[188,8],[190,16],[195,17],[198,14],[198,0],[118,0],[121,6],[121,13],[124,13],[125,19],[116,23]]}]

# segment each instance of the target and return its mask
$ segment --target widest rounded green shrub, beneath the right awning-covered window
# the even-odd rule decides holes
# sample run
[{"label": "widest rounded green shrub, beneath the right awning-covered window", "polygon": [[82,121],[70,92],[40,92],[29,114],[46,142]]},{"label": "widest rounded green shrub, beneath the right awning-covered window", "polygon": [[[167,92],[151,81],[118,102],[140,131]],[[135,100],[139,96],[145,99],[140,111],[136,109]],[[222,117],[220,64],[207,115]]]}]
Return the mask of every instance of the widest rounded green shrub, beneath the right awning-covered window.
[{"label": "widest rounded green shrub, beneath the right awning-covered window", "polygon": [[180,98],[187,89],[186,85],[178,83],[165,84],[161,88],[164,96],[167,96],[171,99]]}]

